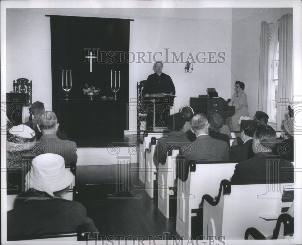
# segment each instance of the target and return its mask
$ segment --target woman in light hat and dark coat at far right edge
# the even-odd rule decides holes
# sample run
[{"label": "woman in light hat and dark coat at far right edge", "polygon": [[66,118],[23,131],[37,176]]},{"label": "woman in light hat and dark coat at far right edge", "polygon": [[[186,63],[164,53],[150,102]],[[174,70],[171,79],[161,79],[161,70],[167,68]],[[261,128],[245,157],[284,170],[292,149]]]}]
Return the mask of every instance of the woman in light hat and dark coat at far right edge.
[{"label": "woman in light hat and dark coat at far right edge", "polygon": [[283,141],[277,142],[274,154],[282,159],[294,161],[294,118],[288,117],[281,123],[281,137]]}]

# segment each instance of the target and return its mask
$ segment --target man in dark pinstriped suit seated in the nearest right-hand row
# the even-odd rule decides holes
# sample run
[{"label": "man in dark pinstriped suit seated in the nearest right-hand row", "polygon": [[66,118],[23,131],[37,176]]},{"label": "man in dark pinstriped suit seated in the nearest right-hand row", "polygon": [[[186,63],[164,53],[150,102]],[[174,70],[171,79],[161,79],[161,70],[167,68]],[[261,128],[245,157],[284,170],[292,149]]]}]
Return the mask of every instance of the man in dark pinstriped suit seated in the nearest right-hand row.
[{"label": "man in dark pinstriped suit seated in the nearest right-hand row", "polygon": [[[271,126],[260,124],[253,136],[255,156],[236,164],[231,184],[292,183],[293,164],[281,158],[276,159],[272,153],[275,143],[276,131]],[[270,158],[274,161],[270,161]]]}]

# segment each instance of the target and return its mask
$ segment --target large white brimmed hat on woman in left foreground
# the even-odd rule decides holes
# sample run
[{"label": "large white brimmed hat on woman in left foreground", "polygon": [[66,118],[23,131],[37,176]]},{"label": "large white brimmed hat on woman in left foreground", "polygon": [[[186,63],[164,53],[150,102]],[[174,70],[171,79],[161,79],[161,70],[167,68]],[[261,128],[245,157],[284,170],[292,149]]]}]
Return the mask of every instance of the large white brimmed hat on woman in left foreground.
[{"label": "large white brimmed hat on woman in left foreground", "polygon": [[58,154],[47,153],[35,157],[31,170],[26,174],[25,191],[34,188],[50,196],[72,183],[73,174],[65,169],[64,158]]}]

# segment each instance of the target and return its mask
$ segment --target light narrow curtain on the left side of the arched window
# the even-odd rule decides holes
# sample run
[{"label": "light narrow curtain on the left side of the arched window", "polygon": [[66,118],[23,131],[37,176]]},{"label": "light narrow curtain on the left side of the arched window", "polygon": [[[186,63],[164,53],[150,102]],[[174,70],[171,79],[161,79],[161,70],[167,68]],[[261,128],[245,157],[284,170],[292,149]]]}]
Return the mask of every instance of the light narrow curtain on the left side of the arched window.
[{"label": "light narrow curtain on the left side of the arched window", "polygon": [[258,110],[267,111],[267,81],[268,81],[268,26],[266,21],[261,22],[260,34],[260,64],[259,64],[259,97]]}]

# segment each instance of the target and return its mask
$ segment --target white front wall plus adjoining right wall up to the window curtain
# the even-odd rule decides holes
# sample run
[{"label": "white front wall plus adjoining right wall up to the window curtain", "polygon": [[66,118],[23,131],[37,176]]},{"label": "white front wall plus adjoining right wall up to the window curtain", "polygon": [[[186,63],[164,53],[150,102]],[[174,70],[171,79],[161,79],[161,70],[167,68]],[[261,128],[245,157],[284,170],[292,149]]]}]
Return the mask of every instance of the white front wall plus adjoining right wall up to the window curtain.
[{"label": "white front wall plus adjoining right wall up to the window curtain", "polygon": [[[185,62],[190,51],[194,58],[200,51],[225,52],[224,63],[210,64],[208,59],[203,64],[194,63],[194,70],[189,74],[185,73],[185,63],[164,63],[163,72],[171,76],[176,88],[176,111],[188,105],[190,97],[206,94],[209,87],[216,88],[224,99],[230,98],[234,82],[240,80],[246,84],[249,113],[253,116],[258,110],[261,21],[275,23],[282,14],[292,13],[286,8],[257,13],[258,10],[261,9],[93,9],[92,13],[86,9],[9,9],[6,17],[7,91],[13,90],[14,79],[28,78],[33,81],[33,101],[43,101],[46,110],[52,110],[50,18],[45,14],[124,16],[134,19],[130,22],[130,51],[134,53],[152,52],[153,56],[154,52],[162,51],[165,61],[164,48],[169,48],[169,62],[172,62],[171,52],[177,56],[184,52]],[[136,106],[136,83],[153,73],[153,57],[151,61],[137,63],[136,59],[130,63],[129,99],[134,106],[131,109]],[[129,117],[131,133],[136,131],[136,111],[131,110]]]}]

